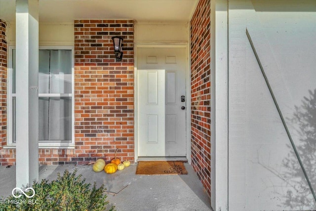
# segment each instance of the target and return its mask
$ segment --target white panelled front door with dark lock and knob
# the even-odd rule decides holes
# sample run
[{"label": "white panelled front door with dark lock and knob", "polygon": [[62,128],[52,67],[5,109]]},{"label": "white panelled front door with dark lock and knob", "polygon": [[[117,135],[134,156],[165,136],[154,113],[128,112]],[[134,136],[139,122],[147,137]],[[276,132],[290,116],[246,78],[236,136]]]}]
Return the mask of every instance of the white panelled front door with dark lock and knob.
[{"label": "white panelled front door with dark lock and knob", "polygon": [[138,156],[186,156],[186,48],[138,48]]}]

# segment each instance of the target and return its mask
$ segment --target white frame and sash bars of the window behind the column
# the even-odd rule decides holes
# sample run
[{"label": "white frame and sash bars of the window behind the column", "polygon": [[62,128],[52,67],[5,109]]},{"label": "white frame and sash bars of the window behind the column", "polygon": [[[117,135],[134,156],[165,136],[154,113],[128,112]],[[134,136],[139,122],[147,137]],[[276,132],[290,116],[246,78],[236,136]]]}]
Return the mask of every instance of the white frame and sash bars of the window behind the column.
[{"label": "white frame and sash bars of the window behind the column", "polygon": [[[3,148],[15,148],[16,143],[13,142],[13,109],[12,109],[12,98],[16,94],[12,94],[12,83],[13,83],[13,55],[12,51],[15,46],[8,47],[7,57],[7,145]],[[66,141],[39,141],[39,148],[57,148],[57,149],[74,149],[75,148],[75,55],[74,46],[39,46],[39,49],[45,50],[71,50],[72,52],[72,93],[60,93],[60,94],[46,94],[39,93],[39,97],[71,97],[72,98],[72,140]]]}]

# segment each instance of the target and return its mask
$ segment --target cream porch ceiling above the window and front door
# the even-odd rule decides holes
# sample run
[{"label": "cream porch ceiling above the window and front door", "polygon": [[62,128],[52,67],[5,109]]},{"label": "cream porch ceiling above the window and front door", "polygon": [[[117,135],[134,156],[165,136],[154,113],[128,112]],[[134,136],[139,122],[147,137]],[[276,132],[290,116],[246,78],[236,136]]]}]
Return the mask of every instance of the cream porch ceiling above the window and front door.
[{"label": "cream porch ceiling above the window and front door", "polygon": [[[189,21],[198,0],[40,0],[40,22],[75,19]],[[0,18],[15,21],[15,0],[0,0]]]}]

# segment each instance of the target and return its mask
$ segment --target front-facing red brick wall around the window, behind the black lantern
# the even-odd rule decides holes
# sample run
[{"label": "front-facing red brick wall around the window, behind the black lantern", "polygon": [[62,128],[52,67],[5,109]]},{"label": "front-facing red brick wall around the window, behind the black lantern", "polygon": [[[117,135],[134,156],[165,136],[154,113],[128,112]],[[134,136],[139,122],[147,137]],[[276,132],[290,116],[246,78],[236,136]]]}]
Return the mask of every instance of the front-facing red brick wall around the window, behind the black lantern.
[{"label": "front-facing red brick wall around the window, behind the black lantern", "polygon": [[[0,26],[1,21],[0,21]],[[134,21],[75,20],[75,149],[39,149],[40,164],[87,164],[134,160]],[[1,32],[5,27],[0,28]],[[2,33],[4,34],[4,33]],[[115,61],[113,36],[123,40],[123,59]],[[1,37],[2,38],[2,37]],[[5,39],[0,39],[4,42]],[[1,43],[6,49],[5,43]],[[6,102],[6,52],[0,55],[1,103]],[[3,69],[3,71],[2,71]],[[6,72],[5,72],[6,73]],[[4,81],[3,81],[4,80]],[[5,84],[3,84],[5,83]],[[1,105],[3,108],[3,104]],[[6,116],[1,109],[1,144],[6,144]],[[3,138],[2,138],[3,136]],[[3,140],[3,142],[2,142]],[[15,150],[0,148],[0,165],[15,165]]]}]

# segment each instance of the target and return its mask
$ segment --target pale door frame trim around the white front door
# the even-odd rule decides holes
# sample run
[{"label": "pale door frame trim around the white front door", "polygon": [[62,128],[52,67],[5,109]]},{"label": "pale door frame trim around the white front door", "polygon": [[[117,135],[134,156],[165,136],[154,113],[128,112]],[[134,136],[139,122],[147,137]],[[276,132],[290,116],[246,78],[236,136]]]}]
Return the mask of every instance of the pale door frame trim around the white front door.
[{"label": "pale door frame trim around the white front door", "polygon": [[[138,159],[138,48],[165,47],[165,48],[185,48],[186,51],[186,158],[191,164],[191,77],[190,77],[190,48],[189,43],[135,43],[134,46],[134,161]],[[190,108],[190,109],[188,109]]]}]

